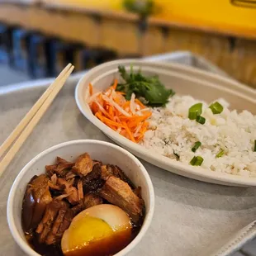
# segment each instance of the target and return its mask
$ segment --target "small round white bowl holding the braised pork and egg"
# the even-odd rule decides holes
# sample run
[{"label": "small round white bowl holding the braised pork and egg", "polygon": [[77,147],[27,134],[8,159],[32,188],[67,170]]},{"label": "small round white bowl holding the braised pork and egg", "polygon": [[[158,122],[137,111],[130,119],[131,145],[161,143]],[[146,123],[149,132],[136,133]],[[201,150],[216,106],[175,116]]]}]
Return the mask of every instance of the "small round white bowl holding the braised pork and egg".
[{"label": "small round white bowl holding the braised pork and egg", "polygon": [[121,149],[121,147],[111,143],[100,140],[73,140],[55,145],[38,154],[26,164],[12,185],[7,201],[7,221],[13,238],[26,254],[32,256],[40,255],[27,244],[21,226],[21,207],[27,183],[34,175],[45,173],[45,165],[54,164],[56,156],[71,161],[85,152],[88,152],[92,159],[101,160],[106,164],[116,164],[135,183],[135,186],[140,186],[142,189],[142,197],[145,201],[145,220],[140,233],[125,249],[115,255],[123,256],[128,254],[131,249],[140,243],[140,239],[148,230],[154,214],[154,188],[149,174],[140,161],[126,149]]}]

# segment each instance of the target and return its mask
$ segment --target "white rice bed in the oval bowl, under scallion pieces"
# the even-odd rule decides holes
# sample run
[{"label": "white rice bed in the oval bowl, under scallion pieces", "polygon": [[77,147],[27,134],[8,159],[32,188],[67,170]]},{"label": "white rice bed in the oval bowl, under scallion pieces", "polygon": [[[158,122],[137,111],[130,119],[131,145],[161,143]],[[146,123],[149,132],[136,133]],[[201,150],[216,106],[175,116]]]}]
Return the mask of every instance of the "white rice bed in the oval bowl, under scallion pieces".
[{"label": "white rice bed in the oval bowl, under scallion pieces", "polygon": [[[174,161],[177,157],[173,151],[185,164],[200,155],[204,159],[201,168],[256,177],[256,116],[249,111],[230,111],[225,100],[216,101],[224,107],[218,115],[211,112],[209,104],[193,97],[171,97],[166,107],[152,109],[149,130],[141,145]],[[187,118],[189,108],[198,102],[203,104],[201,116],[206,118],[204,125]],[[192,147],[197,141],[201,142],[201,147],[193,153]],[[225,155],[216,158],[221,149],[225,150]]]}]

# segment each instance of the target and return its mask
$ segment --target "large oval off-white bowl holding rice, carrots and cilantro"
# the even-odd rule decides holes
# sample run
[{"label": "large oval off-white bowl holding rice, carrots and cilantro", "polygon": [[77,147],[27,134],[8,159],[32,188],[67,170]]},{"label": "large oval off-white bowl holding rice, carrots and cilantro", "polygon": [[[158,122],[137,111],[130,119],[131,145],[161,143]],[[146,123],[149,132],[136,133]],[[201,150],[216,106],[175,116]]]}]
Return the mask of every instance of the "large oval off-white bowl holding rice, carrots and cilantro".
[{"label": "large oval off-white bowl holding rice, carrots and cilantro", "polygon": [[105,90],[113,82],[114,78],[120,78],[118,66],[124,65],[126,69],[133,64],[133,69],[141,69],[145,75],[159,75],[159,79],[166,88],[172,88],[181,95],[191,95],[206,102],[212,102],[219,97],[230,102],[230,108],[238,111],[244,109],[256,115],[256,92],[249,90],[242,84],[231,79],[223,78],[211,73],[197,71],[178,64],[154,63],[145,60],[120,59],[101,64],[86,73],[79,81],[75,97],[79,110],[95,126],[102,130],[108,137],[121,147],[128,149],[132,154],[144,159],[150,164],[164,168],[169,172],[194,178],[207,183],[217,183],[229,186],[256,186],[256,178],[242,177],[227,173],[212,172],[205,169],[199,170],[189,164],[173,161],[167,157],[155,154],[149,149],[126,139],[115,130],[111,130],[102,121],[92,114],[88,106],[88,84],[92,83],[95,92]]}]

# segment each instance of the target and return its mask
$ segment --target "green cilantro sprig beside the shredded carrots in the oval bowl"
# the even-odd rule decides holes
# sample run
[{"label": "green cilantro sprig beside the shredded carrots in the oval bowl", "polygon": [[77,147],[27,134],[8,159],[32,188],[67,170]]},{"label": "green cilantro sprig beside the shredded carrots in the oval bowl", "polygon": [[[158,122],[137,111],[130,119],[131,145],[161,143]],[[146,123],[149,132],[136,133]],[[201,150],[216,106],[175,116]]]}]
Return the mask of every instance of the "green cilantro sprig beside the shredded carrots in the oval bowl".
[{"label": "green cilantro sprig beside the shredded carrots in the oval bowl", "polygon": [[119,66],[118,70],[125,83],[118,84],[116,91],[125,92],[126,100],[130,100],[131,94],[135,93],[136,97],[145,98],[146,105],[163,107],[168,102],[168,98],[175,93],[165,88],[158,76],[145,77],[140,70],[134,72],[132,66],[130,73],[126,72],[124,66]]}]

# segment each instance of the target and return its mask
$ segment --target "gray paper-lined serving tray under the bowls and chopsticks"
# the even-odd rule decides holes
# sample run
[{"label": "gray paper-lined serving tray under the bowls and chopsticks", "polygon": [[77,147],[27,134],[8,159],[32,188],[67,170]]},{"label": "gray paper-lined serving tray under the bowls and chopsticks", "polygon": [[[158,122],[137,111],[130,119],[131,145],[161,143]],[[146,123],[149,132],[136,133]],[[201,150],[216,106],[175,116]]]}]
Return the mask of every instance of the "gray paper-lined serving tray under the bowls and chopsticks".
[{"label": "gray paper-lined serving tray under the bowls and chopsticks", "polygon": [[[212,64],[201,62],[201,59],[189,53],[154,56],[153,60],[177,61],[192,66],[200,63],[203,69],[219,73]],[[44,149],[67,140],[111,141],[76,107],[74,88],[82,75],[73,75],[65,84],[0,179],[0,255],[25,255],[12,239],[6,219],[7,195],[21,168]],[[44,79],[0,88],[0,143],[51,81]],[[256,187],[201,183],[142,163],[154,184],[155,212],[149,231],[130,256],[230,255],[256,235]]]}]

